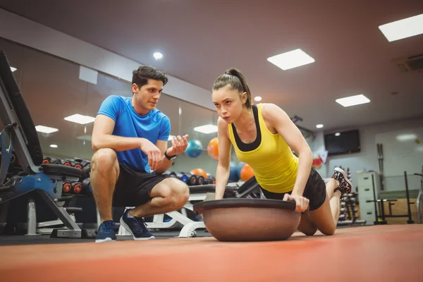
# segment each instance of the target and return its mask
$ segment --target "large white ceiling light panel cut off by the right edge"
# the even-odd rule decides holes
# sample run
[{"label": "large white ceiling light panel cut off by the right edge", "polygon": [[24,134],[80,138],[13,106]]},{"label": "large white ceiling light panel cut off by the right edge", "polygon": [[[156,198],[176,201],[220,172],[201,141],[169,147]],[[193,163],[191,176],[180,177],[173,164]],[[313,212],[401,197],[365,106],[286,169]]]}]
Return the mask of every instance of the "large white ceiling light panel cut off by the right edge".
[{"label": "large white ceiling light panel cut off by the right edge", "polygon": [[418,16],[404,18],[386,25],[379,25],[379,30],[388,42],[423,34],[423,13]]}]

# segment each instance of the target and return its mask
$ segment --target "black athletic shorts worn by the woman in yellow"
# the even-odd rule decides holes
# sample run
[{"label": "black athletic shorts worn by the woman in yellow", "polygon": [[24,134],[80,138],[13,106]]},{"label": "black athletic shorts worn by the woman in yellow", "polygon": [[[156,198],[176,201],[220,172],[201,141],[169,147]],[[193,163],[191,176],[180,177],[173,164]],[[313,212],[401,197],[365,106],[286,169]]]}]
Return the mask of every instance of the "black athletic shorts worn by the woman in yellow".
[{"label": "black athletic shorts worn by the woman in yellow", "polygon": [[[250,186],[255,184],[257,184],[257,180],[255,179],[255,176],[253,176],[249,180],[245,181],[243,185]],[[263,194],[267,199],[283,200],[283,196],[286,194],[269,192],[262,188],[262,186],[260,186],[260,189],[262,189]],[[288,192],[288,194],[291,194],[291,192]],[[310,171],[310,175],[307,180],[307,184],[305,185],[304,192],[302,193],[302,197],[305,197],[309,200],[310,211],[314,211],[314,209],[321,207],[321,205],[326,200],[326,184],[314,168],[312,168],[312,171]]]}]

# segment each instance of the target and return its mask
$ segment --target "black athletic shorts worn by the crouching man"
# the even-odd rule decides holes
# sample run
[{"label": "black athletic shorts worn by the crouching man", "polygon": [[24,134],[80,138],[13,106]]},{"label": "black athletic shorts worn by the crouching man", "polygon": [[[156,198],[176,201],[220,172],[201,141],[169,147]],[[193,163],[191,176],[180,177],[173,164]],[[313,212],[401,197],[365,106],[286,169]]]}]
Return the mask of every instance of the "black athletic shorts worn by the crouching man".
[{"label": "black athletic shorts worn by the crouching man", "polygon": [[145,204],[152,199],[149,194],[154,186],[169,177],[166,174],[133,171],[123,164],[119,164],[119,168],[121,172],[113,196],[115,207],[137,207]]}]

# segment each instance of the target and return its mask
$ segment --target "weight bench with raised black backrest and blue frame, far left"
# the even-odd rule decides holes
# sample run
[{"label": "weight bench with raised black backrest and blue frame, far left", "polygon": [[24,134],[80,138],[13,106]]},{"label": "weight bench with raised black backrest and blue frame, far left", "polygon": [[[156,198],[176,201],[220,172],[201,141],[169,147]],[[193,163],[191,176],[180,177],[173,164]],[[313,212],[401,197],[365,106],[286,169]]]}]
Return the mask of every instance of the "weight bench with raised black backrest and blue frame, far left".
[{"label": "weight bench with raised black backrest and blue frame, far left", "polygon": [[[43,154],[37,130],[2,50],[0,50],[0,118],[4,124],[0,133],[0,220],[6,220],[9,204],[26,202],[27,235],[36,235],[36,204],[40,207],[47,206],[66,226],[64,229],[54,229],[51,237],[81,238],[81,229],[68,214],[80,210],[63,207],[66,200],[70,199],[62,197],[61,194],[63,181],[78,181],[82,172],[78,168],[61,164],[42,164]],[[23,173],[11,176],[8,174],[8,168],[11,161],[16,161],[15,157],[18,158],[17,162]],[[25,205],[22,208],[25,209]],[[46,225],[47,223],[38,224],[38,227]]]}]

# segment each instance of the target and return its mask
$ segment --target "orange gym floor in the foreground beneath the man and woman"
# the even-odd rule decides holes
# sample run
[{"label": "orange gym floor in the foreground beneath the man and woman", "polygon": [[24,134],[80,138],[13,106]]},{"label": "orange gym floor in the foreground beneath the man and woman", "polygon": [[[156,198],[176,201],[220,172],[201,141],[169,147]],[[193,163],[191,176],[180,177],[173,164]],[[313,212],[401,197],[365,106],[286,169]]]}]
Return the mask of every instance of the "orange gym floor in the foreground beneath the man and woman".
[{"label": "orange gym floor in the foreground beneath the man and woman", "polygon": [[[339,228],[285,241],[197,238],[95,244],[48,236],[0,236],[1,281],[419,281],[423,225]],[[13,237],[13,238],[12,238]],[[166,240],[160,240],[166,238]],[[129,239],[129,238],[127,238]],[[29,245],[28,245],[29,244]]]}]

